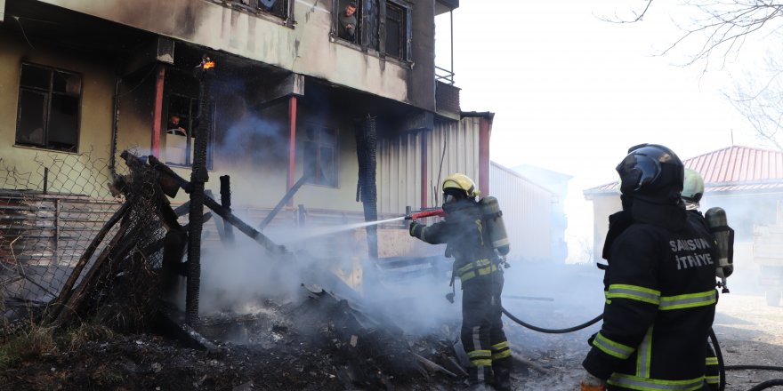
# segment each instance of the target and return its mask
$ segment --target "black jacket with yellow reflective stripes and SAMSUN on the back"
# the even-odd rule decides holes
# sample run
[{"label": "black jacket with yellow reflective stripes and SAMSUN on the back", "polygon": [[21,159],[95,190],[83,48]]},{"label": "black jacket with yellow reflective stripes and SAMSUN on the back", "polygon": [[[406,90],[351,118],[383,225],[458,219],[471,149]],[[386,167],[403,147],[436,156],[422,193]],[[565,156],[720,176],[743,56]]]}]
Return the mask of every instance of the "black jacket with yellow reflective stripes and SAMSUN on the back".
[{"label": "black jacket with yellow reflective stripes and SAMSUN on the back", "polygon": [[691,222],[635,221],[608,260],[603,324],[585,369],[609,389],[700,390],[717,301],[712,236]]}]

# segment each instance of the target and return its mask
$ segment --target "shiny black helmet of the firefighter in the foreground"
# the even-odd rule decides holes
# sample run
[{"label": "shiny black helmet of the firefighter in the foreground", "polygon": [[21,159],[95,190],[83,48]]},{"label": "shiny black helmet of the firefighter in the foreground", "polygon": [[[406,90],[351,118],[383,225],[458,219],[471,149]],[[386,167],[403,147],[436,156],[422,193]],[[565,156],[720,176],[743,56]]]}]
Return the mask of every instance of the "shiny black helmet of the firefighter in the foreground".
[{"label": "shiny black helmet of the firefighter in the foreground", "polygon": [[628,156],[616,170],[623,195],[662,203],[676,202],[680,198],[684,166],[669,148],[657,144],[628,148]]}]

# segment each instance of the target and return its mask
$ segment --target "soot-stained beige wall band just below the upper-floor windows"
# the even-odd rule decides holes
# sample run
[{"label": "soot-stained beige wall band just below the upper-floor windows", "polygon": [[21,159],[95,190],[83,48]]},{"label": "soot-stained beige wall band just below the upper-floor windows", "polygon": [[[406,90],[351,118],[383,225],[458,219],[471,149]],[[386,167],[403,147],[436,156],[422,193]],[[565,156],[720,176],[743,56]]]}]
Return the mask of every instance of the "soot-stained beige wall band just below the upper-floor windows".
[{"label": "soot-stained beige wall band just below the upper-floor windows", "polygon": [[291,1],[294,28],[202,0],[42,0],[392,100],[408,100],[410,69],[329,42],[331,1]]}]

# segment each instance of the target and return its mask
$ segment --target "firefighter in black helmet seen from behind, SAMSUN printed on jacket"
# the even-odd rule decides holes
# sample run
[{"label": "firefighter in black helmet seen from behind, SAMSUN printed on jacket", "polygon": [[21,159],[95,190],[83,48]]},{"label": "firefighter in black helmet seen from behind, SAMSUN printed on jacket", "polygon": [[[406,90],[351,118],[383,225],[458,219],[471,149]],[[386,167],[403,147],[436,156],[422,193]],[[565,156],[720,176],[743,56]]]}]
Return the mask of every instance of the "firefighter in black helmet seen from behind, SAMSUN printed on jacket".
[{"label": "firefighter in black helmet seen from behind, SAMSUN printed on jacket", "polygon": [[582,388],[708,389],[718,253],[687,217],[682,162],[669,148],[642,144],[617,171],[623,210],[609,217],[603,324],[589,341]]}]

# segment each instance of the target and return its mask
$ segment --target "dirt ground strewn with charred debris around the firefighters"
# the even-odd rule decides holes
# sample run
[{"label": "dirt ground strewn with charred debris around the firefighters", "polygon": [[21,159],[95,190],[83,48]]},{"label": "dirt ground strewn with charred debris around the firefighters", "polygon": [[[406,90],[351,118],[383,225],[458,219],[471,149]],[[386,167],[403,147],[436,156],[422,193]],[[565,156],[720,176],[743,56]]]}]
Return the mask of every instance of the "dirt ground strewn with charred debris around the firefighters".
[{"label": "dirt ground strewn with charred debris around the firefighters", "polygon": [[[600,282],[593,278],[592,270],[575,273],[564,278],[583,283],[569,284],[568,289],[549,287],[547,291],[536,283],[509,283],[504,305],[513,315],[539,327],[558,329],[584,323],[600,311]],[[96,339],[12,363],[0,371],[0,390],[464,387],[464,374],[454,360],[458,323],[444,323],[418,336],[375,331],[368,332],[375,335],[364,335],[347,330],[339,314],[344,313],[308,320],[302,307],[263,307],[252,318],[232,322],[233,330],[223,330],[222,336],[233,337],[216,342],[211,351],[185,347],[151,333]],[[600,323],[580,331],[545,334],[523,328],[507,317],[504,322],[517,359],[515,389],[577,389],[583,374],[581,361],[588,350],[586,340],[599,330]],[[721,295],[714,331],[727,365],[783,365],[783,307],[767,306],[761,295],[742,291]],[[210,337],[208,332],[205,336]],[[418,356],[445,371],[428,368]],[[779,371],[730,370],[726,389],[745,391],[763,380],[781,378]]]}]

